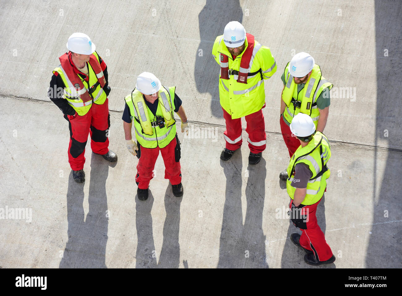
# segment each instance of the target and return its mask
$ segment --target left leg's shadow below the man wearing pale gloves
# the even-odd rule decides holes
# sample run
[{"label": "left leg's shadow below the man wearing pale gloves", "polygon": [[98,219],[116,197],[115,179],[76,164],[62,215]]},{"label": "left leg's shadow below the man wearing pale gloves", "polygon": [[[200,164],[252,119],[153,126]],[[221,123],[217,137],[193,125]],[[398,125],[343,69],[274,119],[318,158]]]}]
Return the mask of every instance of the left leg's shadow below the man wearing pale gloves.
[{"label": "left leg's shadow below the man wearing pale gloves", "polygon": [[138,195],[135,195],[135,228],[137,229],[135,268],[155,268],[157,265],[151,216],[154,196],[151,190],[148,190],[146,201],[140,201]]}]

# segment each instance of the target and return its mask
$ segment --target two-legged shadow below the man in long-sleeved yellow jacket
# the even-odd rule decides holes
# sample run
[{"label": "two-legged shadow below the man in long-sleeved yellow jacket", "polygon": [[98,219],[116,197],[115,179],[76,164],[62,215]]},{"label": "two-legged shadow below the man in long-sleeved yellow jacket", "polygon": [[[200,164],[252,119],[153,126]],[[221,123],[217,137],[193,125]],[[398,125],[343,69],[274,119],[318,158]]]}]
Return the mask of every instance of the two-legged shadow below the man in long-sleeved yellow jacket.
[{"label": "two-legged shadow below the man in long-sleeved yellow jacket", "polygon": [[[240,152],[240,151],[238,151]],[[219,245],[218,268],[268,268],[263,234],[266,162],[242,171],[242,155],[222,161],[226,176],[226,199]],[[248,177],[246,177],[248,175]],[[246,185],[246,217],[242,216],[242,178]]]}]

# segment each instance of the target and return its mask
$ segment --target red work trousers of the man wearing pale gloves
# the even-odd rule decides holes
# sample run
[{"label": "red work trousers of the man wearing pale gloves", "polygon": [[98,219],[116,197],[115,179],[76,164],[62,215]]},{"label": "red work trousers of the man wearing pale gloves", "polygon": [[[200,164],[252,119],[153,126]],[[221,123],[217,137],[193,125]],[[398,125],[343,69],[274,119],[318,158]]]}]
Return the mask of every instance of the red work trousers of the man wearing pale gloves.
[{"label": "red work trousers of the man wearing pale gloves", "polygon": [[176,138],[174,138],[163,148],[145,148],[142,146],[139,148],[141,155],[137,164],[137,176],[135,176],[135,182],[137,182],[139,189],[148,189],[151,179],[154,178],[154,167],[159,151],[165,164],[165,179],[169,179],[172,185],[181,183],[180,161],[176,162],[174,157],[176,143]]}]

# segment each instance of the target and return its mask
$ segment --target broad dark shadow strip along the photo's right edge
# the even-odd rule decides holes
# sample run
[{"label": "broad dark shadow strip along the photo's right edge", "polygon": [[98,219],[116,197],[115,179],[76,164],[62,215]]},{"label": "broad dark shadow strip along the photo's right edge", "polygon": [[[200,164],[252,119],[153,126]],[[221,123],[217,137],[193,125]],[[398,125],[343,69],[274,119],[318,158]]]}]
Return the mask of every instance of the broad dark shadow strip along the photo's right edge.
[{"label": "broad dark shadow strip along the photo's right edge", "polygon": [[[401,268],[402,101],[400,94],[402,86],[400,69],[402,68],[402,47],[400,36],[402,35],[402,2],[376,0],[374,7],[377,103],[373,195],[371,197],[373,212],[367,213],[367,216],[373,216],[373,225],[369,234],[365,268]],[[357,96],[356,99],[362,98]],[[383,145],[384,141],[388,142],[390,147],[388,151],[377,148],[379,144]],[[385,166],[377,161],[382,155],[387,155]],[[384,175],[381,176],[377,170],[383,167]]]}]

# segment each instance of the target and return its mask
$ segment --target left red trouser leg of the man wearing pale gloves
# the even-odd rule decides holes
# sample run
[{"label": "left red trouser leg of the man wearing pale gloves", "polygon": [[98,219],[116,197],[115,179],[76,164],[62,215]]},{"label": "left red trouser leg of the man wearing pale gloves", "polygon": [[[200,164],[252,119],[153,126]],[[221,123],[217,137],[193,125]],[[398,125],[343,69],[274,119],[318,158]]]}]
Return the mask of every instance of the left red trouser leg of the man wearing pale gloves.
[{"label": "left red trouser leg of the man wearing pale gloves", "polygon": [[138,182],[139,189],[147,189],[150,181],[154,178],[156,159],[159,155],[159,147],[145,148],[141,146],[141,157],[138,159],[137,175],[135,182]]}]

